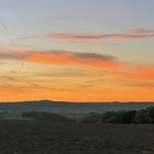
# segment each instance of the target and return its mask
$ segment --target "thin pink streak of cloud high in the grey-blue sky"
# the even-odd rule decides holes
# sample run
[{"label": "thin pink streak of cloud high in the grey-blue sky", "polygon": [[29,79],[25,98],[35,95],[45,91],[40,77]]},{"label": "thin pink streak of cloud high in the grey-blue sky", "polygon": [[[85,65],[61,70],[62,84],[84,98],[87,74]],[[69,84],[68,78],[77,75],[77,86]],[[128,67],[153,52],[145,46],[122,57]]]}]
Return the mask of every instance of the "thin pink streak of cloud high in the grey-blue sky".
[{"label": "thin pink streak of cloud high in the grey-blue sky", "polygon": [[34,36],[20,37],[20,40],[29,38],[58,38],[70,41],[88,41],[88,40],[134,40],[154,37],[154,30],[148,29],[129,29],[127,33],[105,33],[105,34],[86,34],[86,33],[44,33]]}]

